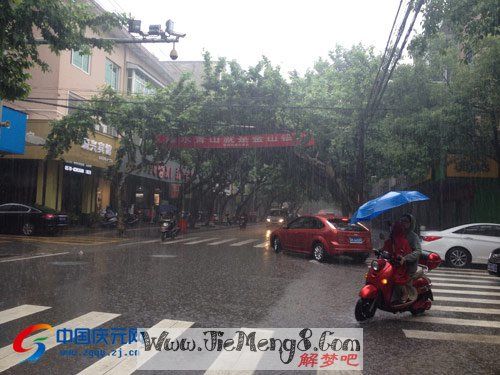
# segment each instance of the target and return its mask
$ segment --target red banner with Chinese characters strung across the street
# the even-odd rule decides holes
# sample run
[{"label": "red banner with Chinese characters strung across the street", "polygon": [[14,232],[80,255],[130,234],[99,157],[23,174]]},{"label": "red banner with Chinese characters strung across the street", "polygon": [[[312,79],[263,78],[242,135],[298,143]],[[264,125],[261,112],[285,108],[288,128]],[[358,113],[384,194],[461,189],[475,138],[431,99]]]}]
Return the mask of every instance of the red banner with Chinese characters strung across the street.
[{"label": "red banner with Chinese characters strung across the street", "polygon": [[[169,138],[158,135],[158,144],[168,143]],[[303,142],[306,141],[305,144]],[[172,148],[261,148],[261,147],[293,147],[313,146],[314,139],[302,133],[299,137],[295,133],[282,134],[254,134],[237,136],[215,136],[215,137],[179,137],[170,141]]]}]

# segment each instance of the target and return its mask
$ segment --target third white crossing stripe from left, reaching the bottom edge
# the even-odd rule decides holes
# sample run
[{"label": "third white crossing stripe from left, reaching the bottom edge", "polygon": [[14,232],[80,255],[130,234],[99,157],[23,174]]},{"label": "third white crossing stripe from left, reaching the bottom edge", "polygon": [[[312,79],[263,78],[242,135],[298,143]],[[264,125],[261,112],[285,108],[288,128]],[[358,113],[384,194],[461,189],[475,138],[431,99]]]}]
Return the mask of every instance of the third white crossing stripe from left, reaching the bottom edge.
[{"label": "third white crossing stripe from left, reaching the bottom edge", "polygon": [[[193,324],[194,324],[193,322],[185,322],[182,320],[165,319],[159,322],[158,324],[155,324],[153,327],[149,328],[147,332],[153,335],[155,333],[153,332],[154,330],[158,332],[158,330],[178,328],[179,330],[175,331],[175,335],[173,335],[172,333],[170,333],[169,335],[169,338],[173,340],[177,337],[177,334],[181,334],[182,332],[184,332],[185,329],[188,329]],[[181,330],[182,328],[184,328],[184,330]],[[122,350],[122,353],[128,353],[129,350],[137,349],[137,343],[125,344],[121,346],[120,349]],[[158,352],[155,350],[141,351],[140,352],[141,362],[142,363],[147,362],[157,353]],[[79,372],[78,375],[94,375],[94,374],[127,375],[135,372],[138,369],[138,365],[139,365],[139,360],[135,356],[128,356],[128,357],[122,356],[121,358],[119,358],[118,356],[107,356],[95,362],[91,366],[87,367],[85,370]]]}]

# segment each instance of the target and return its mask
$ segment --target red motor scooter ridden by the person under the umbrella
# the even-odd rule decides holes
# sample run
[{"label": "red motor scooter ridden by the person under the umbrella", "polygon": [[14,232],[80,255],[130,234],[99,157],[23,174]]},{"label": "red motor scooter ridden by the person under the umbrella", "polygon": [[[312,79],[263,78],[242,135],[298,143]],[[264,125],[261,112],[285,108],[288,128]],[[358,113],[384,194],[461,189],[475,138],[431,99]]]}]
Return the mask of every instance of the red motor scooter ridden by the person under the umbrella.
[{"label": "red motor scooter ridden by the person under the umbrella", "polygon": [[431,290],[431,281],[425,275],[429,270],[435,269],[441,264],[441,257],[429,251],[424,251],[419,259],[419,267],[413,276],[413,287],[416,289],[417,297],[406,303],[392,303],[393,293],[393,266],[396,259],[391,259],[386,251],[375,250],[377,259],[370,266],[366,274],[366,285],[359,292],[360,299],[356,303],[354,315],[361,322],[372,318],[377,309],[399,313],[410,311],[413,315],[422,314],[431,308],[434,300]]}]

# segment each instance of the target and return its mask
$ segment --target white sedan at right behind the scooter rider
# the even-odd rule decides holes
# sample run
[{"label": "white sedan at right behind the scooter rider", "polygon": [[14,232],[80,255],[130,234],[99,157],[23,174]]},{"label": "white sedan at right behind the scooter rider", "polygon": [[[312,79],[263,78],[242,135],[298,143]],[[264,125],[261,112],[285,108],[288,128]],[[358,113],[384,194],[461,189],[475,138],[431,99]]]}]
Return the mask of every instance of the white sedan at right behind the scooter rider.
[{"label": "white sedan at right behind the scooter rider", "polygon": [[452,267],[488,262],[493,250],[500,249],[500,224],[475,223],[420,234],[422,249],[438,253]]}]

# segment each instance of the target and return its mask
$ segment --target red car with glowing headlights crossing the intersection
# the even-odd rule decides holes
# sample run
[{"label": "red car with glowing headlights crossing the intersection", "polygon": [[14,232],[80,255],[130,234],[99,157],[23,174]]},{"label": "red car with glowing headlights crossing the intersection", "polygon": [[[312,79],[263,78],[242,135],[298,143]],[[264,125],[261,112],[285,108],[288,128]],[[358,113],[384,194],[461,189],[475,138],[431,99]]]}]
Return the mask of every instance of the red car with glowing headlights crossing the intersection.
[{"label": "red car with glowing headlights crossing the intersection", "polygon": [[319,262],[330,255],[349,255],[364,262],[372,251],[370,230],[332,215],[301,216],[271,233],[271,245],[281,250],[311,254]]}]

